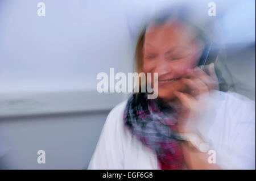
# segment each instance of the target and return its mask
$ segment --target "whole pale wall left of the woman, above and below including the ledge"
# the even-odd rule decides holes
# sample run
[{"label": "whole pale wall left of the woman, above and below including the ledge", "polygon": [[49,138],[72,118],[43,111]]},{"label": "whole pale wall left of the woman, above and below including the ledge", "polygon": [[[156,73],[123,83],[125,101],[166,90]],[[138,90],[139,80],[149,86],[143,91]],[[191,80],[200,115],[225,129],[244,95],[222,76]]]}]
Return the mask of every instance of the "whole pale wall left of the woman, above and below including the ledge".
[{"label": "whole pale wall left of the woman, above and below including the ledge", "polygon": [[97,74],[133,69],[119,2],[0,1],[1,168],[87,168],[108,112],[125,99],[98,95]]}]

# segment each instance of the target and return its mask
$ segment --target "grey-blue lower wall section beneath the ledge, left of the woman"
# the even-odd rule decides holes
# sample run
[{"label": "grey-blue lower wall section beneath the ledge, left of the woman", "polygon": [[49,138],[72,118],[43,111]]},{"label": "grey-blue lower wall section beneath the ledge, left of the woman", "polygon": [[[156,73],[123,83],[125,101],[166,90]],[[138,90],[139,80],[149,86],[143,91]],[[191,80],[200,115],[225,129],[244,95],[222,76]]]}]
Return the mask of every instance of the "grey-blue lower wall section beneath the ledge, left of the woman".
[{"label": "grey-blue lower wall section beneath the ledge, left of the woman", "polygon": [[[0,119],[0,169],[87,169],[108,111]],[[2,148],[3,149],[3,148]],[[38,150],[46,163],[38,164]]]}]

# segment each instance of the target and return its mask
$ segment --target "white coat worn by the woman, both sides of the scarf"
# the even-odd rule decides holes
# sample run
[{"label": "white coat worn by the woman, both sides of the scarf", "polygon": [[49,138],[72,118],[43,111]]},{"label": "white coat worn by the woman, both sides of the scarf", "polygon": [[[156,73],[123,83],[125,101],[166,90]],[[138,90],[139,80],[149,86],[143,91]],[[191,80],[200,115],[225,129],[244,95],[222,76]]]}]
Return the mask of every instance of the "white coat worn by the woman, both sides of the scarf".
[{"label": "white coat worn by the woman, both sides of the scarf", "polygon": [[[212,92],[198,130],[221,169],[255,169],[255,102],[234,92]],[[155,153],[127,131],[127,100],[109,113],[88,169],[160,169]]]}]

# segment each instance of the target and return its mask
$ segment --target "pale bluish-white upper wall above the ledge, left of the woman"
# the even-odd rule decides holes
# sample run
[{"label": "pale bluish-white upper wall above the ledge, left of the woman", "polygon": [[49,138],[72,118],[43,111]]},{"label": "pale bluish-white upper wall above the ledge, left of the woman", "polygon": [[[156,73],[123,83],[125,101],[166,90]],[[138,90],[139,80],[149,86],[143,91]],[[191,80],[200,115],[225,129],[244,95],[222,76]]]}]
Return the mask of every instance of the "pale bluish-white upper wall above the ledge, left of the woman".
[{"label": "pale bluish-white upper wall above the ledge, left of the woman", "polygon": [[119,1],[0,2],[0,93],[96,90],[97,74],[130,72],[133,50]]}]

